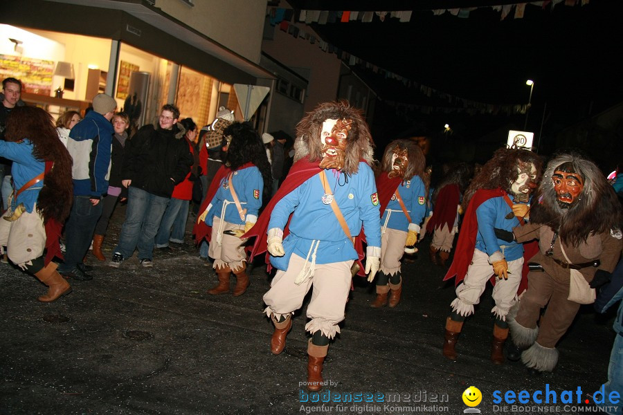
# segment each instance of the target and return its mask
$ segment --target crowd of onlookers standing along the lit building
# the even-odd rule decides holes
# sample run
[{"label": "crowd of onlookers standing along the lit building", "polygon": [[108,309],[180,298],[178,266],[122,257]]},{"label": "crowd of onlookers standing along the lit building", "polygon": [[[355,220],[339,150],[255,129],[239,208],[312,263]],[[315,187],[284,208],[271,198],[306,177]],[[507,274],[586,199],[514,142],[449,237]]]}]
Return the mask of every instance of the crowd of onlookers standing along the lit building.
[{"label": "crowd of onlookers standing along the lit building", "polygon": [[[24,105],[21,88],[15,78],[3,81],[1,139],[12,109]],[[89,250],[107,261],[102,243],[119,203],[127,203],[126,217],[109,266],[120,266],[138,250],[142,266],[150,267],[154,248],[170,250],[170,243],[184,243],[189,212],[197,211],[222,165],[227,151],[223,131],[234,121],[233,111],[220,107],[215,120],[199,129],[192,118],[181,119],[179,109],[166,104],[154,124],[138,129],[136,120],[123,109],[117,111],[109,95],[98,94],[92,102],[84,118],[78,111],[66,111],[56,120],[58,138],[73,159],[73,202],[64,223],[64,261],[58,270],[78,280],[92,278],[93,268],[84,261]],[[262,141],[272,162],[274,194],[291,165],[292,140],[264,133]],[[0,158],[2,212],[11,207],[11,167],[12,160]],[[208,258],[205,242],[200,255]],[[8,262],[6,250],[2,261]]]}]

